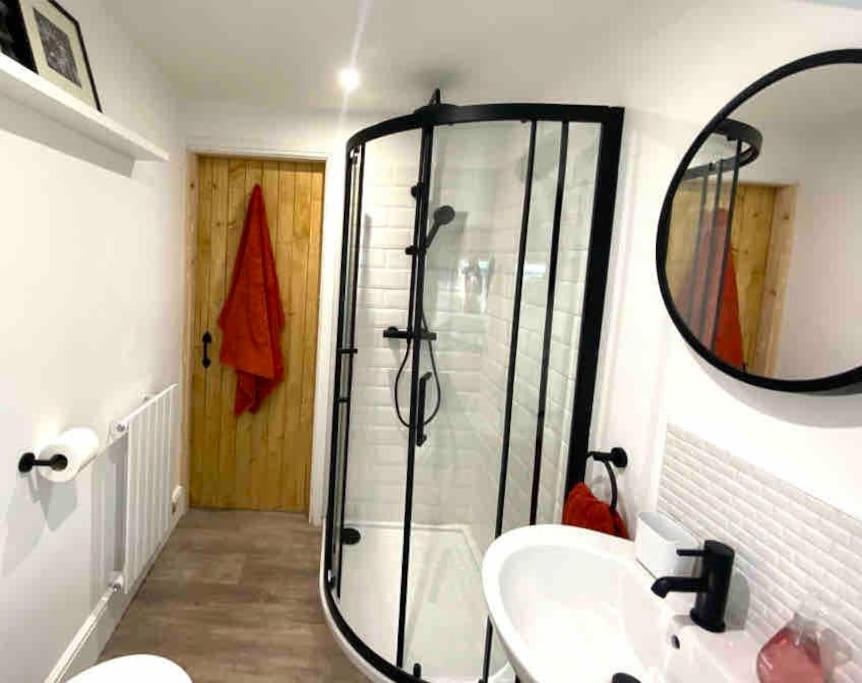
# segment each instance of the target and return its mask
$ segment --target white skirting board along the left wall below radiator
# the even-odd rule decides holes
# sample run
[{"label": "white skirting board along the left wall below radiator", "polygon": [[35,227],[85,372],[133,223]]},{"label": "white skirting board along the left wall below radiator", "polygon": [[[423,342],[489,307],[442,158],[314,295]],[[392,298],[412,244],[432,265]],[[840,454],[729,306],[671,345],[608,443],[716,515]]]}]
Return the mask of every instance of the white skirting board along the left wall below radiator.
[{"label": "white skirting board along the left wall below radiator", "polygon": [[60,655],[60,659],[57,660],[51,673],[48,674],[45,683],[61,683],[90,668],[98,661],[99,655],[146,579],[153,563],[161,554],[164,544],[173,533],[177,522],[188,510],[188,495],[182,486],[178,486],[174,490],[172,498],[177,501],[177,505],[171,520],[170,531],[159,546],[158,552],[150,558],[137,584],[132,586],[128,593],[122,590],[112,590],[110,587],[105,591],[93,611],[84,619],[66,650]]}]

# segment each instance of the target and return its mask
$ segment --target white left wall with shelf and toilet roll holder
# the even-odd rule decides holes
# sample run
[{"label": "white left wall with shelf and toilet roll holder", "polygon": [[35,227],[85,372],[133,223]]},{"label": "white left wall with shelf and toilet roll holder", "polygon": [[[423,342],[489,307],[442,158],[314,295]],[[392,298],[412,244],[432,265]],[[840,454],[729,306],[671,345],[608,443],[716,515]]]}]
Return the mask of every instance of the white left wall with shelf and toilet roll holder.
[{"label": "white left wall with shelf and toilet roll holder", "polygon": [[[104,439],[145,392],[180,379],[184,153],[174,95],[98,0],[63,4],[81,23],[105,112],[172,161],[131,169],[0,98],[0,679],[10,683],[44,680],[107,587],[123,449],[63,485],[20,475],[18,456],[72,425]],[[79,664],[93,661],[124,606],[112,600]]]}]

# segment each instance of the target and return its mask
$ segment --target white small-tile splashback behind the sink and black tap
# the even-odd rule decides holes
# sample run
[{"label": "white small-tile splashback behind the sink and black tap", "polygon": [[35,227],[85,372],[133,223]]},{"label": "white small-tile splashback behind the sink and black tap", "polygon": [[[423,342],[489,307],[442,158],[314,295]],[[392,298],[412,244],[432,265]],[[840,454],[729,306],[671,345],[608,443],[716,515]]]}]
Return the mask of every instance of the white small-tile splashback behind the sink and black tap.
[{"label": "white small-tile splashback behind the sink and black tap", "polygon": [[853,651],[834,680],[862,681],[862,521],[673,426],[658,509],[736,550],[729,625],[765,642],[819,594]]}]

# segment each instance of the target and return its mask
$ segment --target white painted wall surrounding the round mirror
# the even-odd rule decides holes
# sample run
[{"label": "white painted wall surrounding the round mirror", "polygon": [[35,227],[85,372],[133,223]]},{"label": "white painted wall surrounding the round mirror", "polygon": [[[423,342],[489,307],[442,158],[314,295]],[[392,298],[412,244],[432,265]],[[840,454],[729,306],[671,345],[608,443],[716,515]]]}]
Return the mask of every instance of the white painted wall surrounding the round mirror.
[{"label": "white painted wall surrounding the round mirror", "polygon": [[689,4],[649,35],[621,20],[601,43],[582,46],[594,66],[579,66],[567,88],[549,93],[627,107],[594,443],[629,450],[630,517],[655,505],[668,421],[862,516],[862,396],[780,395],[718,375],[672,327],[655,272],[667,184],[702,125],[769,70],[860,44],[858,10],[775,0]]}]

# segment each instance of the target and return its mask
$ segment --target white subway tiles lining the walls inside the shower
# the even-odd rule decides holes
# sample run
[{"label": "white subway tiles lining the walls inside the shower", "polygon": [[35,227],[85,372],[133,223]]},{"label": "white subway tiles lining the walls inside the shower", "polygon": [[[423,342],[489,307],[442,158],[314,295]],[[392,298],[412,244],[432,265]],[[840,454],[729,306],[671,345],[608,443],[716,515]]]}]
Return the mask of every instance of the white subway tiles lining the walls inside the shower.
[{"label": "white subway tiles lining the walls inside the shower", "polygon": [[[472,140],[469,149],[461,148],[458,155],[438,157],[437,185],[432,187],[431,210],[450,204],[457,214],[452,225],[441,228],[427,264],[426,312],[430,328],[438,335],[435,352],[443,401],[440,414],[429,425],[427,445],[417,450],[414,521],[463,525],[480,550],[493,538],[496,514],[528,129],[524,125],[522,131],[503,138],[486,135]],[[576,133],[575,127],[571,133]],[[594,143],[590,135],[583,149]],[[558,140],[558,125],[540,129],[513,400],[506,528],[525,523],[529,511],[548,226],[556,189],[556,158],[551,150]],[[578,178],[580,173],[591,182],[593,168],[576,168],[577,155],[571,154],[576,135],[570,136],[570,143],[566,185],[574,199],[567,197],[562,221],[540,521],[555,518],[562,494],[588,242],[584,235],[589,213],[578,194],[583,186]],[[352,430],[347,517],[398,522],[404,514],[403,480],[400,489],[397,483],[405,475],[406,430],[395,419],[393,392],[404,343],[385,340],[382,332],[389,325],[406,325],[410,259],[403,250],[412,239],[410,186],[417,169],[401,155],[415,155],[416,149],[397,153],[389,149],[388,155],[377,157],[374,151],[369,145],[357,295],[357,345],[366,363],[357,365],[353,388],[353,422],[367,428]],[[463,271],[471,260],[486,268],[478,306],[465,292]],[[427,363],[427,354],[423,356]],[[400,393],[405,413],[409,382],[409,369],[405,369]]]}]

